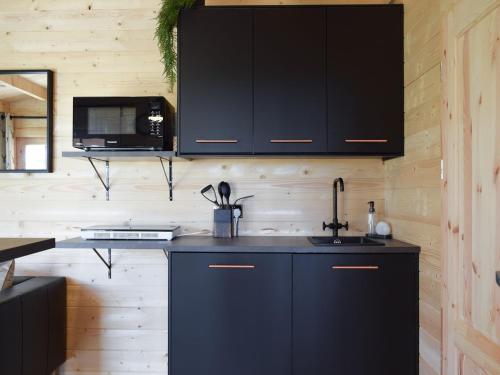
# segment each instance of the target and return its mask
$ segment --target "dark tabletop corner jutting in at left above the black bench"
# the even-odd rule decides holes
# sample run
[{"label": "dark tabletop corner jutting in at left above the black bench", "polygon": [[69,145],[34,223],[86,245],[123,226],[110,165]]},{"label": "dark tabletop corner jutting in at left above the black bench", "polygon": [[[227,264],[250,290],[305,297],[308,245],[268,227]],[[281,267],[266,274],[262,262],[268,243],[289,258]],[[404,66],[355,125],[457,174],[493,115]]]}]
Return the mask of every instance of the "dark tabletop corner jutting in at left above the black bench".
[{"label": "dark tabletop corner jutting in at left above the black bench", "polygon": [[56,247],[54,238],[0,238],[0,262]]}]

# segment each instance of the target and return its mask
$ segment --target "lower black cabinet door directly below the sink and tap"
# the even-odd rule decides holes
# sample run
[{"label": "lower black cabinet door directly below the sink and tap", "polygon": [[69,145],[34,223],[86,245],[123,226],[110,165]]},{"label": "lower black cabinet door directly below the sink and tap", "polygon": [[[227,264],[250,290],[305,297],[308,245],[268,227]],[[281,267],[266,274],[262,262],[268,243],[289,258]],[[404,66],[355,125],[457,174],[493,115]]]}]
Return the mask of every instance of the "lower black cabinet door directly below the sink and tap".
[{"label": "lower black cabinet door directly below the sink and tap", "polygon": [[416,375],[417,256],[294,255],[294,375]]}]

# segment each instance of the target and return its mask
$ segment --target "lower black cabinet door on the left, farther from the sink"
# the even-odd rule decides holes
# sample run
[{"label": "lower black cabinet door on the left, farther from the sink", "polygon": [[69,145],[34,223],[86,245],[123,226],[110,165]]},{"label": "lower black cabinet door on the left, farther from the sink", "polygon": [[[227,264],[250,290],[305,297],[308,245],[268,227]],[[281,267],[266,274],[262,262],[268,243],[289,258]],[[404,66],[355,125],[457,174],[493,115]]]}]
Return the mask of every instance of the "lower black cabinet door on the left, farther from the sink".
[{"label": "lower black cabinet door on the left, farther from the sink", "polygon": [[170,375],[290,375],[291,255],[173,253]]}]

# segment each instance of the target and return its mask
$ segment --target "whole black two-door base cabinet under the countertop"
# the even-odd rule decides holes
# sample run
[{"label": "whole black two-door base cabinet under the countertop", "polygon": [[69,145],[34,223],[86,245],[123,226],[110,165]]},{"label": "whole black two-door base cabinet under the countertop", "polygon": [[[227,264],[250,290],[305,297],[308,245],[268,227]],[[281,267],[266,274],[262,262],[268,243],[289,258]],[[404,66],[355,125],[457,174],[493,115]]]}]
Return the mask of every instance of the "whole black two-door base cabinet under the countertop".
[{"label": "whole black two-door base cabinet under the countertop", "polygon": [[417,375],[418,254],[172,253],[169,375]]}]

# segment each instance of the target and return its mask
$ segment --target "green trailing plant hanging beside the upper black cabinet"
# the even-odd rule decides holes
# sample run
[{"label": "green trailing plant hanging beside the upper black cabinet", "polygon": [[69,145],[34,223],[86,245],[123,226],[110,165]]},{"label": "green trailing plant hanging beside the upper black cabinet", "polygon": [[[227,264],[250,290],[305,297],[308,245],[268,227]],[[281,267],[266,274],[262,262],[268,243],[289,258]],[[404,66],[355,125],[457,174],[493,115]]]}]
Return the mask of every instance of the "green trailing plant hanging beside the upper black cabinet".
[{"label": "green trailing plant hanging beside the upper black cabinet", "polygon": [[164,74],[173,88],[177,79],[177,18],[184,8],[190,8],[196,0],[162,0],[155,37],[164,66]]}]

